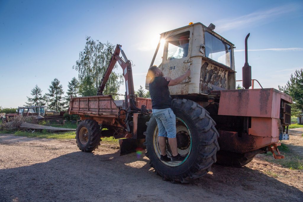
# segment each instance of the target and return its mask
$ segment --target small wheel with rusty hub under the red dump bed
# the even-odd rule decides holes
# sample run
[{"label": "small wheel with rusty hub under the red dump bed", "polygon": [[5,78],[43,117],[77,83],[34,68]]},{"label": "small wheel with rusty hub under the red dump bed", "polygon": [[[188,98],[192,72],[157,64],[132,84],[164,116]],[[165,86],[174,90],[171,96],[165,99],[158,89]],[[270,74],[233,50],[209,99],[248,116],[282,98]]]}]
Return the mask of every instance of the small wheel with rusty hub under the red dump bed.
[{"label": "small wheel with rusty hub under the red dump bed", "polygon": [[76,143],[81,151],[92,152],[101,142],[101,130],[97,121],[86,119],[76,130]]}]

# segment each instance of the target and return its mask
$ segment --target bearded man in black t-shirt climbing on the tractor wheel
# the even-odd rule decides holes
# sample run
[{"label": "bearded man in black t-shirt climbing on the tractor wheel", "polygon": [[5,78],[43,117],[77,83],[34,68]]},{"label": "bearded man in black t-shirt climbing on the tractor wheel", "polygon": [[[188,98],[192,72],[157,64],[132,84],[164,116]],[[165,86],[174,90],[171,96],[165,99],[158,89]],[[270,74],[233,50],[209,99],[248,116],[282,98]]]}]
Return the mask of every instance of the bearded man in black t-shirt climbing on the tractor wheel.
[{"label": "bearded man in black t-shirt climbing on the tractor wheel", "polygon": [[[162,161],[183,161],[185,157],[178,154],[176,138],[176,116],[171,109],[171,95],[168,86],[174,86],[181,83],[190,75],[190,70],[176,79],[163,77],[163,73],[157,66],[151,66],[148,69],[148,75],[151,77],[149,82],[149,93],[151,95],[152,112],[158,124],[158,143],[161,151]],[[166,137],[171,147],[172,157],[167,156]]]}]

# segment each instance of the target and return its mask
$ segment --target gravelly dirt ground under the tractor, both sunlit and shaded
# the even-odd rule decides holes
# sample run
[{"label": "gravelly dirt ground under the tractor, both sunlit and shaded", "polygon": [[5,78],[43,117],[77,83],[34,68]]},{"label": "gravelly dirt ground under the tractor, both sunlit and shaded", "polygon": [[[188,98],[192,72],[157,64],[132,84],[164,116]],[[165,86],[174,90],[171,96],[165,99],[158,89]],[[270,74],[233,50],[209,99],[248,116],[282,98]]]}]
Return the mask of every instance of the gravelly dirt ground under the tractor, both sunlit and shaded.
[{"label": "gravelly dirt ground under the tractor, both sunlit and shaded", "polygon": [[[288,143],[300,154],[302,132],[292,129]],[[102,144],[85,153],[74,140],[0,134],[0,201],[303,200],[303,171],[269,163],[261,155],[242,168],[213,165],[194,183],[172,184],[155,174],[144,151],[120,157],[111,147]]]}]

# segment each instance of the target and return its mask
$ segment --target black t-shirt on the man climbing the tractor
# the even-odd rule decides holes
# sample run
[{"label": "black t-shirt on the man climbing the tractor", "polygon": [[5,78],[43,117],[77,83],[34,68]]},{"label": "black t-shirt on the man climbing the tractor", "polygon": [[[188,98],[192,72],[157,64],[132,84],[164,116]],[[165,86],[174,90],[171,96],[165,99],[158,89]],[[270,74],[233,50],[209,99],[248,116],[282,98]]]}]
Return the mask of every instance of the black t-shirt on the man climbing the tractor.
[{"label": "black t-shirt on the man climbing the tractor", "polygon": [[153,109],[171,108],[168,83],[169,81],[166,81],[164,77],[155,77],[154,81],[149,83],[149,93]]}]

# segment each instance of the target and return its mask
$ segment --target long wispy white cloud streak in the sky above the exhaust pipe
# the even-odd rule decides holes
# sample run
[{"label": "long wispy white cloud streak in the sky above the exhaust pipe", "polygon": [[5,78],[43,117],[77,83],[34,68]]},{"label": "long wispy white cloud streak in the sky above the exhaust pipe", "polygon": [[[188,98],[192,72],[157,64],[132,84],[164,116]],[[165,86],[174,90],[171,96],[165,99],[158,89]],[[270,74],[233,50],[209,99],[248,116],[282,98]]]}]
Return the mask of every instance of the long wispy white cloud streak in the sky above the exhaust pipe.
[{"label": "long wispy white cloud streak in the sky above the exhaust pipe", "polygon": [[252,26],[253,24],[264,24],[279,16],[283,16],[286,13],[294,12],[298,10],[300,6],[296,4],[283,5],[269,10],[257,11],[250,13],[248,15],[243,15],[234,19],[223,19],[215,22],[216,32],[217,31],[227,31],[239,27]]}]

